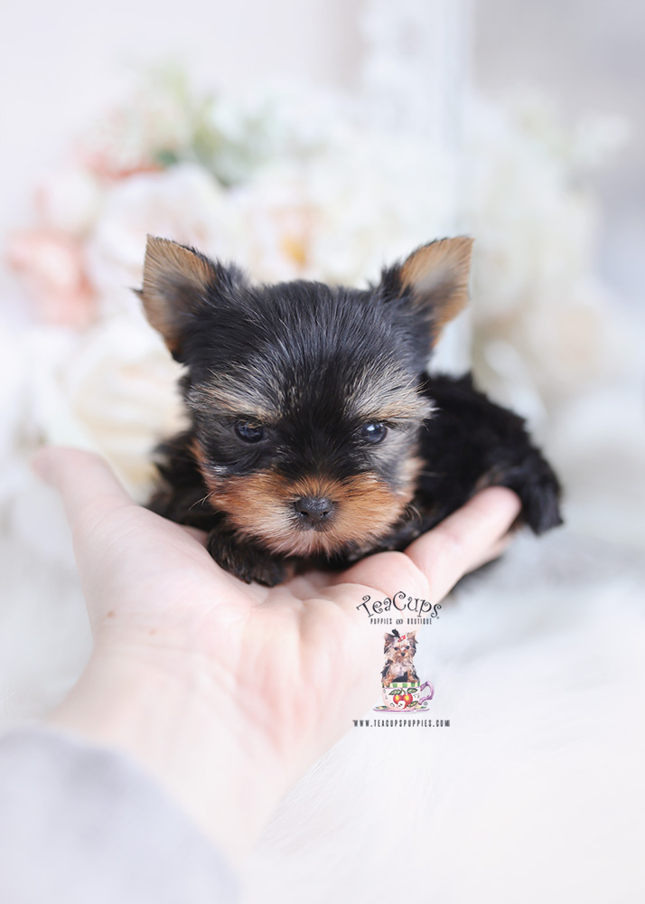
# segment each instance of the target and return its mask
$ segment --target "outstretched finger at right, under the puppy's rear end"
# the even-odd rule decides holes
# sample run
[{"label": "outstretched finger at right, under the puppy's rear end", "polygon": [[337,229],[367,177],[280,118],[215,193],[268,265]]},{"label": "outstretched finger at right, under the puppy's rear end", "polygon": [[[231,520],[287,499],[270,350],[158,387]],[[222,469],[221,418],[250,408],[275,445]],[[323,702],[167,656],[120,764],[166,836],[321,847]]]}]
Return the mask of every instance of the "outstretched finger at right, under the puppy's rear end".
[{"label": "outstretched finger at right, under the puppy's rear end", "polygon": [[512,490],[493,486],[407,547],[406,555],[429,580],[433,598],[443,598],[467,571],[491,554],[520,509],[519,497]]}]

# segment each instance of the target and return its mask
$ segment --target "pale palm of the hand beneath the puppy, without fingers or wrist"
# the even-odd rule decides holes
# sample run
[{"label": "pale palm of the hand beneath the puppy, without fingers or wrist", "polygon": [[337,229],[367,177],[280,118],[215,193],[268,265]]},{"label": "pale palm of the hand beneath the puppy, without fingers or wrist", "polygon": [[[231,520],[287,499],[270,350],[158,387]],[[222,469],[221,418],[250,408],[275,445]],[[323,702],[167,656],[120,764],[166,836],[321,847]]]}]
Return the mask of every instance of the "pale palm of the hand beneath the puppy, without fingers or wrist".
[{"label": "pale palm of the hand beneath the puppy, without fingers or wrist", "polygon": [[121,494],[95,499],[84,519],[79,561],[98,650],[196,684],[261,727],[278,754],[297,742],[314,755],[314,734],[316,749],[321,739],[328,746],[376,698],[382,638],[357,607],[384,590],[369,579],[389,592],[425,590],[402,553],[381,553],[353,574],[247,585],[215,564],[200,532]]}]

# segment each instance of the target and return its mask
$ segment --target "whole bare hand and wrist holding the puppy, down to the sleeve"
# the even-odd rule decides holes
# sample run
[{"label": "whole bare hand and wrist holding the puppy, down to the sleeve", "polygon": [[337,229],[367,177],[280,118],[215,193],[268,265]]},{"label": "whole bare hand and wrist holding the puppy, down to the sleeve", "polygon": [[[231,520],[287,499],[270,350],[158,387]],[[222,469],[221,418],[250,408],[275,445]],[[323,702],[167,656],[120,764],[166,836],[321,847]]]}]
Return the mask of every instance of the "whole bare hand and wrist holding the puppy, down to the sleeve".
[{"label": "whole bare hand and wrist holding the puppy, down to the sleeve", "polygon": [[491,488],[406,552],[267,589],[221,570],[201,532],[133,503],[99,457],[49,448],[34,468],[61,494],[94,637],[51,724],[137,758],[233,861],[379,690],[363,596],[438,602],[519,513]]}]

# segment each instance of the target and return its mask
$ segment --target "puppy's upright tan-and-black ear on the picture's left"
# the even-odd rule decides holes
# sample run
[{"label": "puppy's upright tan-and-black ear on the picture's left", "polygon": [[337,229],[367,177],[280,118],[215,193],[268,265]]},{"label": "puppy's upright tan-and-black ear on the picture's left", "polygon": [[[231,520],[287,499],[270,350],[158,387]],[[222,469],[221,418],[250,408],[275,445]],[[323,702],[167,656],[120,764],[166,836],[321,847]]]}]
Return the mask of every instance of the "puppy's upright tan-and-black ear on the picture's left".
[{"label": "puppy's upright tan-and-black ear on the picture's left", "polygon": [[222,267],[199,251],[148,236],[144,285],[136,293],[144,304],[148,323],[164,336],[173,358],[182,360],[183,336],[237,276],[237,270]]}]

